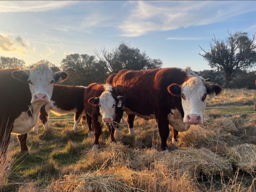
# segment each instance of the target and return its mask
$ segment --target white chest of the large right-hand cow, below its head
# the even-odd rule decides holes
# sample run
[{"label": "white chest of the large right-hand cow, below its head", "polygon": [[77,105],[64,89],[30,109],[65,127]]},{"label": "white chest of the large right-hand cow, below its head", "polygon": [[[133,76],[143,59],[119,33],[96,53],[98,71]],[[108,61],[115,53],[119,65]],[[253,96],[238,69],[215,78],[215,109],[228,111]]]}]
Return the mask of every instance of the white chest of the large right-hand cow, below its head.
[{"label": "white chest of the large right-hand cow, below its head", "polygon": [[169,124],[179,132],[187,131],[190,125],[183,122],[180,111],[178,109],[171,109],[171,112],[168,114]]}]

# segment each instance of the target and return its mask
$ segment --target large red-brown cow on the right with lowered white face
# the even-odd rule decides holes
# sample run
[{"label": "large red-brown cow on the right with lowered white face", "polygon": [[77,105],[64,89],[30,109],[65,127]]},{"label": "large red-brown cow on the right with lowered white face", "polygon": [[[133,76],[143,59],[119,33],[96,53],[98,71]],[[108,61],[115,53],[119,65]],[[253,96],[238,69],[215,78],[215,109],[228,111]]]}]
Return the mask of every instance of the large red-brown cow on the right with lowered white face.
[{"label": "large red-brown cow on the right with lowered white face", "polygon": [[[188,68],[191,70],[190,68]],[[187,70],[188,70],[187,69]],[[123,110],[127,114],[131,136],[135,116],[146,120],[156,119],[161,137],[160,150],[167,150],[169,124],[172,127],[173,145],[179,132],[191,124],[203,123],[207,94],[219,94],[221,86],[205,82],[192,71],[180,68],[152,70],[122,70],[113,78],[113,87],[125,98]]]}]

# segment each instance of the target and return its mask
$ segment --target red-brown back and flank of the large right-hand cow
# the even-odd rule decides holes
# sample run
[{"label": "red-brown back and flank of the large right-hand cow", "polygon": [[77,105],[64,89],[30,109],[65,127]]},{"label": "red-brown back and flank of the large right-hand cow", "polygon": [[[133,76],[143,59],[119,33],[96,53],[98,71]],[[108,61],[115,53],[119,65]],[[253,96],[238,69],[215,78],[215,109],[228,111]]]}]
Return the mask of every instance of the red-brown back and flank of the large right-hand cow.
[{"label": "red-brown back and flank of the large right-hand cow", "polygon": [[[113,80],[118,94],[125,97],[125,107],[141,115],[168,114],[170,108],[182,110],[181,100],[170,95],[167,87],[181,85],[187,72],[179,68],[163,68],[141,71],[120,71]],[[166,111],[165,111],[166,110]]]}]

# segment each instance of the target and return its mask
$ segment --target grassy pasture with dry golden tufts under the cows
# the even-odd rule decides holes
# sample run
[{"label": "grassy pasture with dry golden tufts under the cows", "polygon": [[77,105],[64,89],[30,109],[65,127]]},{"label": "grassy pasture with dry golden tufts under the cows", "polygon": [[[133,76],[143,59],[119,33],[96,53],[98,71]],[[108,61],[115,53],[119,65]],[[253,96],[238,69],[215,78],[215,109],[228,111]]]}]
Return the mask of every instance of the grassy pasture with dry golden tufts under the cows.
[{"label": "grassy pasture with dry golden tufts under the cows", "polygon": [[155,120],[137,118],[137,136],[110,144],[104,127],[99,149],[87,131],[74,134],[73,114],[50,114],[51,129],[28,134],[31,155],[19,152],[11,137],[7,171],[0,167],[1,191],[255,191],[256,111],[255,90],[224,89],[207,98],[202,125],[179,133],[177,147],[160,153]]}]

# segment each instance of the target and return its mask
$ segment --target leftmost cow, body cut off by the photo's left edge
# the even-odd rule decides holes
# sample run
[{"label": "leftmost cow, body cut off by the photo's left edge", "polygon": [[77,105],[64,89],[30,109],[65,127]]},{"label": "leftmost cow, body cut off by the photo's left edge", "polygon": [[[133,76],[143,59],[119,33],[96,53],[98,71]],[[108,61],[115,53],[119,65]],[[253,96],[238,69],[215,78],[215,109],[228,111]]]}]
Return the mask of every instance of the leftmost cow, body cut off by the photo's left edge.
[{"label": "leftmost cow, body cut off by the photo's left edge", "polygon": [[39,109],[50,102],[54,82],[63,82],[68,74],[53,73],[47,64],[31,70],[0,70],[0,155],[6,153],[11,133],[16,134],[21,151],[28,151],[27,133],[39,118]]}]

